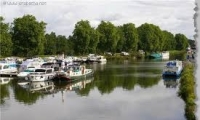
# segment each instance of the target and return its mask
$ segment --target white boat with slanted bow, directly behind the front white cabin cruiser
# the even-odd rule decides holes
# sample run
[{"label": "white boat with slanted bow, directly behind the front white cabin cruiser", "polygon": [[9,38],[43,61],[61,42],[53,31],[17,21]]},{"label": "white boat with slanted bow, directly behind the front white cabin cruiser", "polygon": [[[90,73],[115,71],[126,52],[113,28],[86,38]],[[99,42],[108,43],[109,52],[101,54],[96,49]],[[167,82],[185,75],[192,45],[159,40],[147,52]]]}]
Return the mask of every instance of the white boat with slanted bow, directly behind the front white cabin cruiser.
[{"label": "white boat with slanted bow, directly behind the front white cabin cruiser", "polygon": [[[33,73],[35,72],[35,67],[28,67],[26,70],[20,72],[19,74],[17,74],[17,77],[20,79],[20,80],[27,80],[27,76],[30,74],[30,73]],[[25,79],[26,78],[26,79]]]}]

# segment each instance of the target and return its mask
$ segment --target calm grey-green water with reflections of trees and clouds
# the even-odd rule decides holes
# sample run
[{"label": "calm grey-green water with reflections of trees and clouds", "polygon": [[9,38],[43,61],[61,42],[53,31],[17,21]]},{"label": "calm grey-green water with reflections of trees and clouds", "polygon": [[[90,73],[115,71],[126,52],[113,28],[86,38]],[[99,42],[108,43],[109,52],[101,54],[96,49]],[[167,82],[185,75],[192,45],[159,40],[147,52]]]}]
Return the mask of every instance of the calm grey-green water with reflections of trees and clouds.
[{"label": "calm grey-green water with reflections of trees and clouds", "polygon": [[51,92],[1,85],[2,120],[185,120],[179,80],[163,80],[164,61],[91,64],[94,76]]}]

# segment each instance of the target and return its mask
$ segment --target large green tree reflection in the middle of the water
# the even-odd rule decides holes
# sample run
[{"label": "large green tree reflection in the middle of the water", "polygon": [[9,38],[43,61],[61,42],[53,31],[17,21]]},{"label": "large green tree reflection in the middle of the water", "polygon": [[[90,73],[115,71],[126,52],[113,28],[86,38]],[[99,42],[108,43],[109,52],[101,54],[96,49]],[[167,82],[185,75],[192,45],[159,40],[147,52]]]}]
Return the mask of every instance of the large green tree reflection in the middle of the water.
[{"label": "large green tree reflection in the middle of the water", "polygon": [[164,62],[123,61],[122,64],[110,63],[105,66],[103,71],[95,71],[95,86],[101,94],[111,93],[117,87],[126,90],[133,90],[135,85],[142,88],[152,87],[161,79],[160,73],[163,65]]}]

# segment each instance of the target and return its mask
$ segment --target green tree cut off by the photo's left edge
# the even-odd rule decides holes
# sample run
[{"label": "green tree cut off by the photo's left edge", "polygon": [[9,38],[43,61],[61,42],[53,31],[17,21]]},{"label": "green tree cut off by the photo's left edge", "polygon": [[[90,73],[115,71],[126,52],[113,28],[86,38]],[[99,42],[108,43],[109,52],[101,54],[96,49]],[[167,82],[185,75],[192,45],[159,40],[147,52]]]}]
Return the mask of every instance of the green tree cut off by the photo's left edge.
[{"label": "green tree cut off by the photo's left edge", "polygon": [[4,23],[4,18],[0,16],[0,56],[12,55],[12,40],[11,34],[9,33],[9,24]]}]

